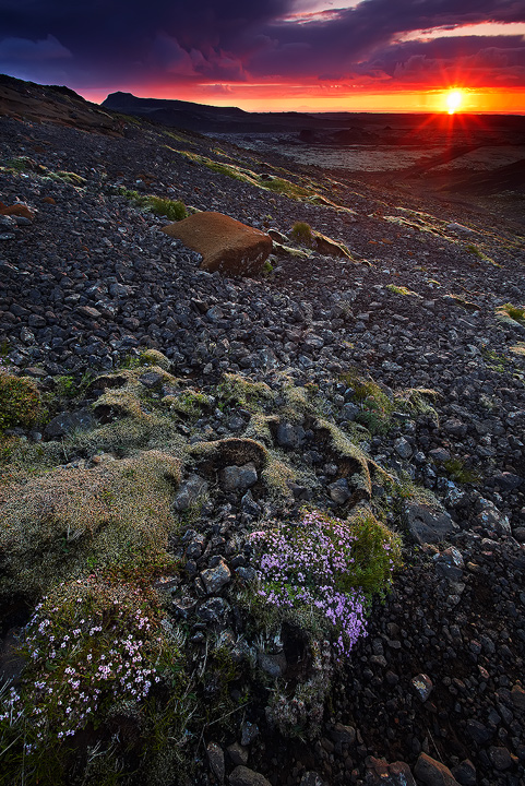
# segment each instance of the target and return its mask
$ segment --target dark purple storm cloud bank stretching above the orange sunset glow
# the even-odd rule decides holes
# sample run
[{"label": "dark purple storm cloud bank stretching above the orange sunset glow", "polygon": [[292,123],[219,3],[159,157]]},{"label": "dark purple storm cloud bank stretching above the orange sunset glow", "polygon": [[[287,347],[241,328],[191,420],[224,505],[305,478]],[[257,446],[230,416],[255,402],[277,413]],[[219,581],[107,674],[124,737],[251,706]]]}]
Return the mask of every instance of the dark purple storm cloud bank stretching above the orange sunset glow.
[{"label": "dark purple storm cloud bank stretching above the orange sunset glow", "polygon": [[525,0],[363,0],[308,22],[293,16],[297,7],[297,0],[0,0],[0,69],[77,87],[359,73],[409,81],[440,63],[449,68],[453,58],[477,58],[491,61],[491,74],[523,82],[520,38],[396,40],[432,27],[525,22]]}]

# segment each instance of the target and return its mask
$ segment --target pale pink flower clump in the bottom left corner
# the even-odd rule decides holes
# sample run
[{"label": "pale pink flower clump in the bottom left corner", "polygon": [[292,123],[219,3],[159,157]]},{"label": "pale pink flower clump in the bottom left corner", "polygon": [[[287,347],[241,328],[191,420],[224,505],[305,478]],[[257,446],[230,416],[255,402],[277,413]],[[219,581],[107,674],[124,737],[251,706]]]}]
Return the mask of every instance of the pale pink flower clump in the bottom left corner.
[{"label": "pale pink flower clump in the bottom left corner", "polygon": [[74,735],[116,700],[144,700],[160,679],[155,660],[163,641],[150,634],[153,620],[136,607],[139,594],[133,597],[130,587],[117,599],[110,585],[92,587],[90,580],[74,582],[73,594],[75,587],[77,597],[64,608],[45,599],[26,629],[26,654],[37,677],[26,706],[35,745]]}]

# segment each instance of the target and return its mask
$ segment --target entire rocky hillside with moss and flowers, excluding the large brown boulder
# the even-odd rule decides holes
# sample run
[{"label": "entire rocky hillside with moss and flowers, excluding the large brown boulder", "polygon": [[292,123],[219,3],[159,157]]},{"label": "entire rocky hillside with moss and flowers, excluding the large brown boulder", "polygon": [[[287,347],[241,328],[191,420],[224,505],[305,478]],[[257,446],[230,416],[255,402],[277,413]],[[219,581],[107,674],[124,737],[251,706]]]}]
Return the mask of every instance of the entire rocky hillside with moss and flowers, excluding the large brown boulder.
[{"label": "entire rocky hillside with moss and flowers, excluding the large brown boulder", "polygon": [[[0,117],[0,783],[523,786],[520,196],[39,90]],[[162,231],[195,211],[261,272]]]}]

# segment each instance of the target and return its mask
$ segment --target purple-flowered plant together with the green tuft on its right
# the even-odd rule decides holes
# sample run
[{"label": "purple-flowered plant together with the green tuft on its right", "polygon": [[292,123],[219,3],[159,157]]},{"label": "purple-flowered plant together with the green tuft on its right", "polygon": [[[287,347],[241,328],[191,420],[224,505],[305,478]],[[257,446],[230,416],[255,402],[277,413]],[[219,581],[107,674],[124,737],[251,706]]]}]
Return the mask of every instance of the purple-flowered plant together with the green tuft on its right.
[{"label": "purple-flowered plant together with the green tuft on its right", "polygon": [[373,592],[392,582],[398,541],[371,513],[354,521],[307,512],[296,525],[252,533],[259,596],[321,617],[337,657],[366,635]]}]

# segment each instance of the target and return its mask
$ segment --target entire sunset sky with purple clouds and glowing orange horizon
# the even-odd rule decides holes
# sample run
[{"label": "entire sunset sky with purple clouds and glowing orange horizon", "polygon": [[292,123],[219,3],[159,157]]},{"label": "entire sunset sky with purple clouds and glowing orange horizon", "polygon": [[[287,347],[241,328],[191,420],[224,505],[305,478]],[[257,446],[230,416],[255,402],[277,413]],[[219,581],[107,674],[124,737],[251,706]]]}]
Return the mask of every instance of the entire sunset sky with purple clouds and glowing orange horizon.
[{"label": "entire sunset sky with purple clouds and glowing orange horizon", "polygon": [[525,0],[0,0],[0,73],[250,111],[525,114]]}]

